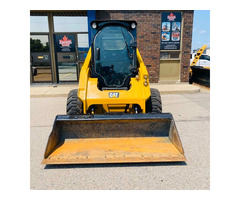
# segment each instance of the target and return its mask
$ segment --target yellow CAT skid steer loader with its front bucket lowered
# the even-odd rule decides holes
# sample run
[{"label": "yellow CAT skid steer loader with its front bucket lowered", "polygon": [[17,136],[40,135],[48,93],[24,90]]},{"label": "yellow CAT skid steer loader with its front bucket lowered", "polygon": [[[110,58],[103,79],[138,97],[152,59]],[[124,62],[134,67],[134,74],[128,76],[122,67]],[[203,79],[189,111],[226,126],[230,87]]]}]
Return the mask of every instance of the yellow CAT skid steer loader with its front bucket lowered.
[{"label": "yellow CAT skid steer loader with its front bucket lowered", "polygon": [[135,21],[93,21],[92,44],[56,116],[42,164],[185,161],[170,113],[137,49]]}]

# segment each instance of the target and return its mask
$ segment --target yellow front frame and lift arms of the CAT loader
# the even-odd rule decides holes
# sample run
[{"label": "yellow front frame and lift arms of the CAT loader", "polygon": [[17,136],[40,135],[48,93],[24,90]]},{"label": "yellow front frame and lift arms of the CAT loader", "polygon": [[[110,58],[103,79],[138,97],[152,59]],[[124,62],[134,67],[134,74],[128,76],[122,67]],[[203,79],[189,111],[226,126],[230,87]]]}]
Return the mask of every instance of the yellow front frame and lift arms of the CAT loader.
[{"label": "yellow front frame and lift arms of the CAT loader", "polygon": [[[78,97],[83,103],[83,113],[86,114],[89,107],[97,107],[96,114],[104,112],[134,112],[133,105],[141,107],[142,113],[146,113],[146,101],[150,98],[149,75],[137,49],[139,63],[138,75],[131,78],[129,90],[99,90],[98,79],[90,77],[91,48],[88,51],[85,62],[80,72]],[[118,93],[110,98],[109,93]],[[127,106],[128,105],[128,106]],[[127,110],[126,110],[127,106]]]}]

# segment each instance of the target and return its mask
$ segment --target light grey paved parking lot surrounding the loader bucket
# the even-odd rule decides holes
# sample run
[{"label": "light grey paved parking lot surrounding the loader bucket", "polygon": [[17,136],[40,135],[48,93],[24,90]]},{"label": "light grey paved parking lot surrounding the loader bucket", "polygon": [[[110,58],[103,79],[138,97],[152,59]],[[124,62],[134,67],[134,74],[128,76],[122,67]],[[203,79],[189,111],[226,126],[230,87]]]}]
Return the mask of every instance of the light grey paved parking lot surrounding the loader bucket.
[{"label": "light grey paved parking lot surrounding the loader bucket", "polygon": [[210,91],[163,94],[162,101],[163,112],[175,119],[186,162],[45,166],[48,136],[55,116],[65,114],[66,98],[31,98],[31,189],[210,189]]}]

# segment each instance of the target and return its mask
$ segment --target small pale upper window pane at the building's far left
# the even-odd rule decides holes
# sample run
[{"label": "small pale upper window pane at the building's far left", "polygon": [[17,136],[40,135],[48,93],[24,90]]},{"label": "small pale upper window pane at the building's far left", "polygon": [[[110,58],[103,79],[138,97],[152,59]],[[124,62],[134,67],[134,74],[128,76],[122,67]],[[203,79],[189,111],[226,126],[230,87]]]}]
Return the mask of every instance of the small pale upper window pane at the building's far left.
[{"label": "small pale upper window pane at the building's far left", "polygon": [[30,17],[30,32],[48,32],[48,17],[47,16],[31,16]]}]

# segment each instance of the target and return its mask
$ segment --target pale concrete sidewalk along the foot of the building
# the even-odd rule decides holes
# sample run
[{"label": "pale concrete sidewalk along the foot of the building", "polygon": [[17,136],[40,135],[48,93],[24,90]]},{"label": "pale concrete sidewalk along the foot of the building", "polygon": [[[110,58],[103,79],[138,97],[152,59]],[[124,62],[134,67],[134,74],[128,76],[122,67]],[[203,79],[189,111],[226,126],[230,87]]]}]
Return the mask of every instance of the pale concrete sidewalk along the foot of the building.
[{"label": "pale concrete sidewalk along the foot of the building", "polygon": [[[161,94],[191,94],[200,92],[196,85],[188,83],[180,84],[159,84],[151,83],[151,88],[156,88]],[[78,84],[33,84],[30,86],[31,97],[67,97],[68,92],[77,89]]]}]

